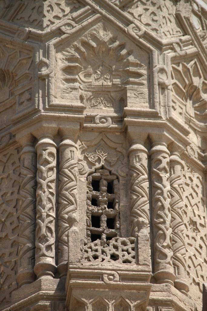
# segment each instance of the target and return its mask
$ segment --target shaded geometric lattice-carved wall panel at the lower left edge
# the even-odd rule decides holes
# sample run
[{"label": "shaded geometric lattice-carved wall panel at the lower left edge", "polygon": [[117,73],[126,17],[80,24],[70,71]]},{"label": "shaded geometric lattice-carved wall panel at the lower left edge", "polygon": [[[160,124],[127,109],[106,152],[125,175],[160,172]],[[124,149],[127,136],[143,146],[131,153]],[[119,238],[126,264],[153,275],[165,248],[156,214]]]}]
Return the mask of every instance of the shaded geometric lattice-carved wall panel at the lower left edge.
[{"label": "shaded geometric lattice-carved wall panel at the lower left edge", "polygon": [[7,304],[16,290],[20,208],[20,149],[0,155],[0,301]]}]

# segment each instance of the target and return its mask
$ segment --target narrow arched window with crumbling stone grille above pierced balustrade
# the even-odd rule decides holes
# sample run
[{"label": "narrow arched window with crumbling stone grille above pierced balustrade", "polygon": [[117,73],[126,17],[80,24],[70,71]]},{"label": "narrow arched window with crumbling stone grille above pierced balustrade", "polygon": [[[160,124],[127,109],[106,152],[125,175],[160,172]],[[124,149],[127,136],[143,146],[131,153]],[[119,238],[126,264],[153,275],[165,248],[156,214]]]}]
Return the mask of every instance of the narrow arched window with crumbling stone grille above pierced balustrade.
[{"label": "narrow arched window with crumbling stone grille above pierced balustrade", "polygon": [[87,218],[89,241],[99,239],[104,245],[120,236],[119,180],[106,169],[97,169],[87,178]]}]

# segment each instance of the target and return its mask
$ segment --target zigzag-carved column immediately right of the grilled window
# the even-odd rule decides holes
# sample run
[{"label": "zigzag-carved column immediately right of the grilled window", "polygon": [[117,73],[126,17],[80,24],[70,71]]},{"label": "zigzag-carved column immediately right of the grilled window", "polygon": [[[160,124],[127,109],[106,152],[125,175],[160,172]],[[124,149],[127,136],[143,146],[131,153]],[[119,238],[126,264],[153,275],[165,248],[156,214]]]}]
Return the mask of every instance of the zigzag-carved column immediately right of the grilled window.
[{"label": "zigzag-carved column immediately right of the grilled window", "polygon": [[133,144],[129,149],[130,162],[130,224],[131,236],[138,232],[137,221],[140,219],[148,227],[149,216],[149,181],[147,171],[147,150],[142,144]]}]

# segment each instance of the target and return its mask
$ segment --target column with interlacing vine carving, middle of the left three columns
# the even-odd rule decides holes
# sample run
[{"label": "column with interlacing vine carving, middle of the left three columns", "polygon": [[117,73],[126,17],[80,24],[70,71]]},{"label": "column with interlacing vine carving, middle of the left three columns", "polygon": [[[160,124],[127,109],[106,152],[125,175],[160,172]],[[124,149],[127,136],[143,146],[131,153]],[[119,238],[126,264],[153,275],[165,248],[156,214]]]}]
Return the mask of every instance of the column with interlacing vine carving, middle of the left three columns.
[{"label": "column with interlacing vine carving, middle of the left three columns", "polygon": [[40,137],[37,150],[37,217],[34,272],[54,276],[56,144],[50,135]]}]

